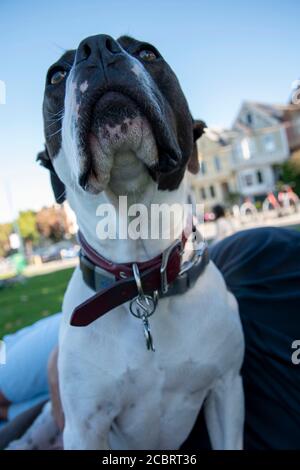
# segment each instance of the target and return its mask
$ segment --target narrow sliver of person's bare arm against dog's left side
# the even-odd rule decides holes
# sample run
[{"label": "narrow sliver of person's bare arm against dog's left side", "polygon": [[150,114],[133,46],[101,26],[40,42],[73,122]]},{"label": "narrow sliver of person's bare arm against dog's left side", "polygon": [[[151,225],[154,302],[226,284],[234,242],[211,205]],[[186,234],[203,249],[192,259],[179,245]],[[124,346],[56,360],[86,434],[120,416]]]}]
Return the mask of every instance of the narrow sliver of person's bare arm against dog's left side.
[{"label": "narrow sliver of person's bare arm against dog's left side", "polygon": [[65,418],[59,393],[57,360],[58,348],[55,348],[49,357],[48,380],[52,404],[52,414],[60,431],[63,431],[65,425]]}]

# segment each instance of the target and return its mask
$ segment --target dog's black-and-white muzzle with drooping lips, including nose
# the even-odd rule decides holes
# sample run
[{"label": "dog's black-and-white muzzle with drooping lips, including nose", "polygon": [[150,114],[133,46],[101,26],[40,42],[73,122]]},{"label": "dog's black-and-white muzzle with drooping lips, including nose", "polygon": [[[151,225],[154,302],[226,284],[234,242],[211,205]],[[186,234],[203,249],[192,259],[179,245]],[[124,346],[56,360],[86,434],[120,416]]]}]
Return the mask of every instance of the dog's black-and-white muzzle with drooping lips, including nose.
[{"label": "dog's black-and-white muzzle with drooping lips, including nose", "polygon": [[67,83],[64,135],[75,141],[82,188],[105,189],[120,153],[134,154],[152,176],[177,167],[181,152],[164,101],[143,65],[109,36],[79,45]]}]

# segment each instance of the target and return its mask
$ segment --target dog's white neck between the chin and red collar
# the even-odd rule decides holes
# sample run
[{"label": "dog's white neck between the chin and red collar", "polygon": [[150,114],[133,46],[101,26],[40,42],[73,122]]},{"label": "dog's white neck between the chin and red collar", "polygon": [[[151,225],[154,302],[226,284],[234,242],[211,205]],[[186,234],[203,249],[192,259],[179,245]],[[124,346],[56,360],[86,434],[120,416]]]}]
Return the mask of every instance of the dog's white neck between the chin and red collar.
[{"label": "dog's white neck between the chin and red collar", "polygon": [[[141,262],[157,256],[170,246],[175,239],[181,238],[187,223],[187,214],[179,210],[177,211],[175,222],[173,220],[171,224],[169,233],[164,234],[165,238],[162,236],[151,237],[151,230],[157,229],[157,218],[155,221],[152,220],[151,207],[155,204],[157,205],[156,207],[162,207],[161,205],[164,204],[165,207],[171,208],[172,205],[178,204],[182,208],[183,205],[187,203],[187,183],[185,179],[175,191],[160,191],[157,188],[157,184],[149,177],[143,187],[130,192],[126,199],[124,197],[122,198],[123,207],[121,210],[120,198],[110,189],[103,191],[99,195],[91,195],[82,191],[80,188],[75,188],[74,190],[69,188],[67,190],[67,198],[76,213],[79,230],[84,235],[87,242],[100,255],[115,263]],[[133,218],[135,219],[136,211],[139,211],[140,207],[134,207],[133,205],[141,204],[144,206],[146,211],[145,213],[143,213],[143,211],[139,212],[139,221],[140,227],[143,227],[144,230],[148,227],[148,237],[133,239],[128,236],[127,232],[126,238],[123,238],[124,227],[128,228],[132,221],[132,217],[128,216],[128,212],[124,210],[124,202],[127,203],[128,210],[130,208],[133,210]],[[105,204],[108,204],[108,206],[104,206]],[[99,236],[99,231],[103,228],[103,224],[101,225],[100,221],[103,220],[102,217],[106,207],[113,207],[115,210],[117,220],[116,238],[103,239],[103,237]],[[107,217],[106,220],[108,220]],[[161,221],[162,218],[160,217],[160,222]],[[166,221],[164,220],[164,222]]]}]

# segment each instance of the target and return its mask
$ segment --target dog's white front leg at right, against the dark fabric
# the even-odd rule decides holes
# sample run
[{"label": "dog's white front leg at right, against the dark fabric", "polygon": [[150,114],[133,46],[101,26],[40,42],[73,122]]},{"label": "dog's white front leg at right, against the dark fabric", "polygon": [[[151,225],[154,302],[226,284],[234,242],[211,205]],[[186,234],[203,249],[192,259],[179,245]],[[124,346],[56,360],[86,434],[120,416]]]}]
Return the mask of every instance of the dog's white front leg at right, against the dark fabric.
[{"label": "dog's white front leg at right, against the dark fabric", "polygon": [[213,449],[243,448],[244,394],[242,378],[236,371],[217,380],[205,400],[204,413]]}]

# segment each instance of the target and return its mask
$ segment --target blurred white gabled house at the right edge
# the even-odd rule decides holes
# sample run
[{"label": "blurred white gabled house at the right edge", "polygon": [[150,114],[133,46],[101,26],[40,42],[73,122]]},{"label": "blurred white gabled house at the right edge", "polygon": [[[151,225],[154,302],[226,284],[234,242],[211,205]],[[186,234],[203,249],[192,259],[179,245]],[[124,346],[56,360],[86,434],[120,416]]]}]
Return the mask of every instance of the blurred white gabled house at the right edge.
[{"label": "blurred white gabled house at the right edge", "polygon": [[245,102],[233,129],[239,133],[232,154],[239,193],[256,198],[274,191],[279,165],[291,155],[290,137],[296,143],[299,131],[300,138],[300,107]]}]

